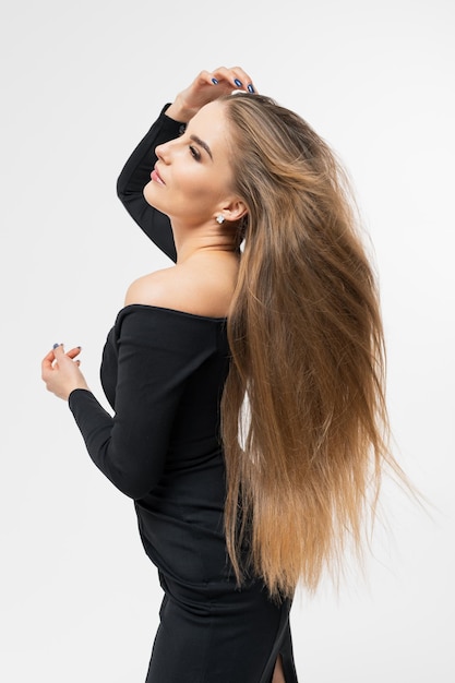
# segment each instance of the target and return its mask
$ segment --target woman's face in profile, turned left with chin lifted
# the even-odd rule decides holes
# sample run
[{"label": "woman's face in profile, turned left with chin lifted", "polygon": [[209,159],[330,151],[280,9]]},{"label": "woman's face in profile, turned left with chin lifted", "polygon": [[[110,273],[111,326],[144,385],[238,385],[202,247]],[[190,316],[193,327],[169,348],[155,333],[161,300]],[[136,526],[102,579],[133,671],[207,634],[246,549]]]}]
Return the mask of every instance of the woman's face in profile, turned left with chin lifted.
[{"label": "woman's face in profile, turned left with chin lifted", "polygon": [[200,109],[181,137],[156,147],[145,200],[172,220],[213,224],[232,200],[229,133],[220,103]]}]

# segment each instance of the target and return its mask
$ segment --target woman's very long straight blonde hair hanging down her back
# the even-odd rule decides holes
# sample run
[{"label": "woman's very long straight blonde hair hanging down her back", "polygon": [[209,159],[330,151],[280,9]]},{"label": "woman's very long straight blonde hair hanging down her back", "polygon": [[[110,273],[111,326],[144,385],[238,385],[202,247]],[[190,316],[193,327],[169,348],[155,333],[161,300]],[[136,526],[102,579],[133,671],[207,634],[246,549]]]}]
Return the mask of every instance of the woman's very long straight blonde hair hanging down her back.
[{"label": "woman's very long straight blonde hair hanging down her back", "polygon": [[[378,288],[345,173],[268,97],[224,99],[248,206],[221,404],[227,548],[239,580],[313,590],[363,544],[387,447]],[[247,554],[246,554],[247,553]]]}]

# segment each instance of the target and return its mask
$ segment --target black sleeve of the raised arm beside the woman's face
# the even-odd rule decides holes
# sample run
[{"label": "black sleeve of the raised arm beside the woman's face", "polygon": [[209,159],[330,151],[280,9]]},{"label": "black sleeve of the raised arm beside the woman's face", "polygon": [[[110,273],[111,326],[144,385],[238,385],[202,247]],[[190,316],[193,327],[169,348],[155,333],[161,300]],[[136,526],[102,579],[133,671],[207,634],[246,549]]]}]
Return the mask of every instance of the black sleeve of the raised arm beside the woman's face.
[{"label": "black sleeve of the raised arm beside the woman's face", "polygon": [[176,247],[169,218],[149,206],[143,195],[143,189],[151,179],[151,171],[157,159],[155,147],[178,137],[183,125],[165,115],[168,106],[164,107],[158,119],[124,165],[117,181],[117,194],[145,235],[167,256],[176,261]]}]

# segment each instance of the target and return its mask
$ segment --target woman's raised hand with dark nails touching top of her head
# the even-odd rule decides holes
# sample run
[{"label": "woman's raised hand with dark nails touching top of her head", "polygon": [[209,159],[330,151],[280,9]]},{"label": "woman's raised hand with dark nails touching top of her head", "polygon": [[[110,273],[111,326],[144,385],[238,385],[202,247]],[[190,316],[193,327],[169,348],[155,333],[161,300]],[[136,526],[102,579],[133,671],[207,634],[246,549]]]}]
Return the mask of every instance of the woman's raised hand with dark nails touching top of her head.
[{"label": "woman's raised hand with dark nails touching top of her head", "polygon": [[215,71],[201,71],[184,91],[179,93],[175,101],[166,110],[166,116],[175,121],[188,123],[204,105],[229,95],[232,91],[254,93],[251,77],[240,67],[226,69],[219,67]]}]

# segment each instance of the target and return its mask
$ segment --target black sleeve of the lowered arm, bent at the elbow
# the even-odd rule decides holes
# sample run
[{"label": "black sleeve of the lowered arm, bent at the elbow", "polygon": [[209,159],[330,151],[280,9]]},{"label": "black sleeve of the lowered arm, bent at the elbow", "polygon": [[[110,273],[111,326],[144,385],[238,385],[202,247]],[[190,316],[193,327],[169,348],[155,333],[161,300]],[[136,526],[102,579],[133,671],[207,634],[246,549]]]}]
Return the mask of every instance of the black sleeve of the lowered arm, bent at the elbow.
[{"label": "black sleeve of the lowered arm, bent at the elbow", "polygon": [[113,331],[113,417],[86,390],[73,391],[69,407],[95,465],[120,491],[141,499],[163,475],[187,382],[216,338],[209,321],[139,304],[120,311]]}]

